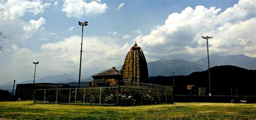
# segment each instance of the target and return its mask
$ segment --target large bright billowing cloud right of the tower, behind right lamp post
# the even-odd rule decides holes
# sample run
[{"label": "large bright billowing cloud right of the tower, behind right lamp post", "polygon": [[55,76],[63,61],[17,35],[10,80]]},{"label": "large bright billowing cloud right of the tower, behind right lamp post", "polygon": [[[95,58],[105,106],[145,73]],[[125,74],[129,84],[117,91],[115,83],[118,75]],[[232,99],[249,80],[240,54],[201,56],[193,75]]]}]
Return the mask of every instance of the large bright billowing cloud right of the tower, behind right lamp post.
[{"label": "large bright billowing cloud right of the tower, behind right lamp post", "polygon": [[[205,56],[206,42],[201,36],[213,36],[209,40],[210,54],[245,54],[256,57],[255,4],[239,1],[220,13],[220,9],[196,6],[187,7],[181,13],[172,13],[165,25],[157,26],[149,35],[138,33],[138,41],[147,57],[197,60]],[[247,19],[246,19],[247,18]],[[163,53],[163,51],[165,51]]]}]

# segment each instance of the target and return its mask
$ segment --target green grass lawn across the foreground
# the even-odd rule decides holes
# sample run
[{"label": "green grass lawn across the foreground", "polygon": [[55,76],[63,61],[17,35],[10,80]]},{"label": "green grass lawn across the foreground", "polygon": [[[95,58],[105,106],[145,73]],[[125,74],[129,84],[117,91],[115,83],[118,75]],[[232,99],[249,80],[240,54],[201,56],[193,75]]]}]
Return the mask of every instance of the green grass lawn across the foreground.
[{"label": "green grass lawn across the foreground", "polygon": [[69,104],[34,104],[32,101],[0,102],[1,118],[29,119],[168,119],[220,118],[256,119],[256,104],[174,103],[148,106],[83,106]]}]

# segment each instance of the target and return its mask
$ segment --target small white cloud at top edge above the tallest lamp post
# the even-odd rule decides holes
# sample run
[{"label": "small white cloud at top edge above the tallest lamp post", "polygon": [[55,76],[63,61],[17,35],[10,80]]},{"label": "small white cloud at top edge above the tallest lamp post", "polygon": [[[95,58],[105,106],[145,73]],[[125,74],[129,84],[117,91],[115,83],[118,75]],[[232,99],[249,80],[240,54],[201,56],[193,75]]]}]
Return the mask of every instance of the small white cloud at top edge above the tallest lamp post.
[{"label": "small white cloud at top edge above the tallest lamp post", "polygon": [[92,1],[90,3],[77,1],[64,1],[62,11],[66,12],[68,17],[81,18],[90,14],[99,14],[106,12],[106,3],[100,3],[100,1]]}]

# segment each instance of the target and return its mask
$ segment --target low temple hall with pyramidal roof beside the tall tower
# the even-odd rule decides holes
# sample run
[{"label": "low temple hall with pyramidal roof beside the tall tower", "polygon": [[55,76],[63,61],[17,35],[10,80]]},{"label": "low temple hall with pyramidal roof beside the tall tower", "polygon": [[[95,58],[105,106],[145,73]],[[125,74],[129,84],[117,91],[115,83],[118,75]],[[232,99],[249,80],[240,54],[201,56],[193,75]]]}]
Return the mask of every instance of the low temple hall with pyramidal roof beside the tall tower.
[{"label": "low temple hall with pyramidal roof beside the tall tower", "polygon": [[91,86],[117,86],[118,80],[122,80],[122,74],[113,67],[110,70],[93,75],[92,78]]}]

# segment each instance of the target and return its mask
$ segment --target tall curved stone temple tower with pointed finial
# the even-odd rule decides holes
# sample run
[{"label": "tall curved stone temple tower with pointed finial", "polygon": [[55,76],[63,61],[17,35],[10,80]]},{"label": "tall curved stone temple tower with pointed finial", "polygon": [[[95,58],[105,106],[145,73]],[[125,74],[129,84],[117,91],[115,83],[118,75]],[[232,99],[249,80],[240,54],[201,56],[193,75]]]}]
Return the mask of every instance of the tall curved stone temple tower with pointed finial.
[{"label": "tall curved stone temple tower with pointed finial", "polygon": [[146,58],[136,42],[125,57],[121,73],[124,82],[148,83]]}]

